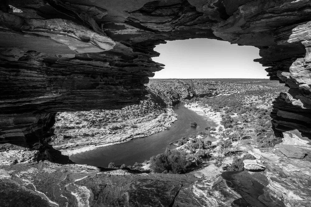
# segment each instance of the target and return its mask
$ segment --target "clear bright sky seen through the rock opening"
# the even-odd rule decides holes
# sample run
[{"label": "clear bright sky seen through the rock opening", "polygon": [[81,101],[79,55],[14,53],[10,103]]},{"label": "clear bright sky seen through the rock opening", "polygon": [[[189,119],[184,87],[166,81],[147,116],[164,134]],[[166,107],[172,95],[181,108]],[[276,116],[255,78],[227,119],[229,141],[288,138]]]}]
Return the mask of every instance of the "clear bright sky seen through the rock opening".
[{"label": "clear bright sky seen through the rock opening", "polygon": [[214,39],[168,41],[157,45],[159,57],[153,61],[165,68],[154,78],[265,78],[267,72],[258,62],[259,49],[252,46],[231,45]]}]

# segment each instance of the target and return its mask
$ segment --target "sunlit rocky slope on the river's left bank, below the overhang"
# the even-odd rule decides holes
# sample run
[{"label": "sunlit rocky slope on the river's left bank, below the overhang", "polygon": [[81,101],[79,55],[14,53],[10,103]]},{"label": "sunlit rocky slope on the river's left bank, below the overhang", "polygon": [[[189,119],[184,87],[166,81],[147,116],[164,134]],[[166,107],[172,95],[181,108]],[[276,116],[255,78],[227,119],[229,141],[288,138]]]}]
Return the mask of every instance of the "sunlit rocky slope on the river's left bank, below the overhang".
[{"label": "sunlit rocky slope on the river's left bank, below the overhang", "polygon": [[119,110],[57,113],[48,142],[63,155],[142,138],[163,131],[177,120],[174,110],[156,94]]}]

